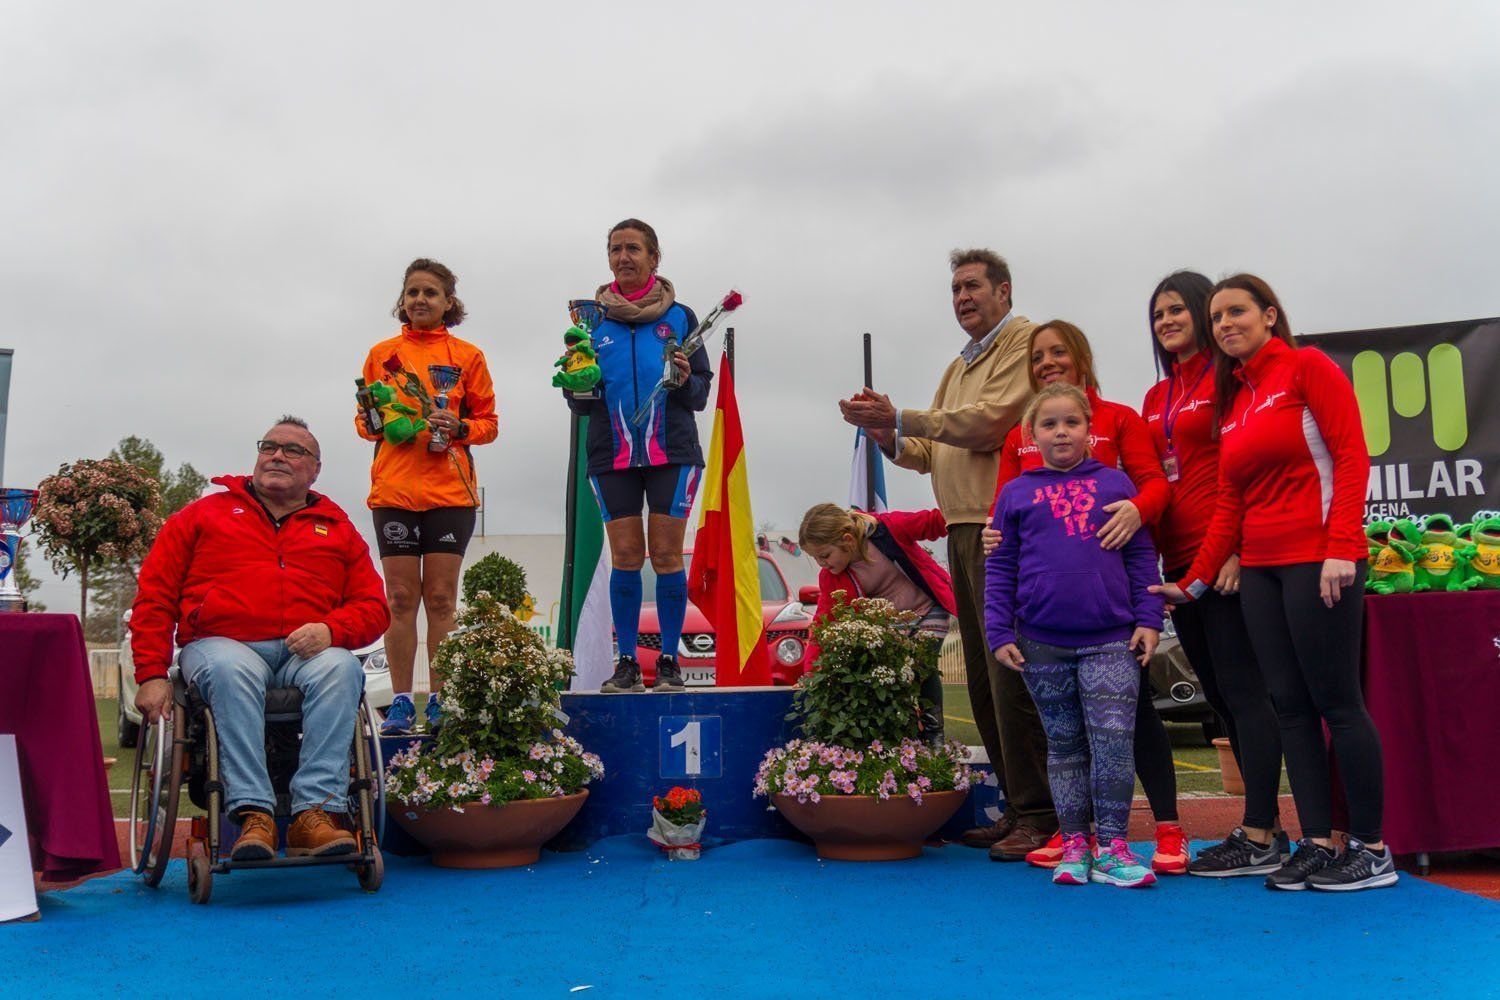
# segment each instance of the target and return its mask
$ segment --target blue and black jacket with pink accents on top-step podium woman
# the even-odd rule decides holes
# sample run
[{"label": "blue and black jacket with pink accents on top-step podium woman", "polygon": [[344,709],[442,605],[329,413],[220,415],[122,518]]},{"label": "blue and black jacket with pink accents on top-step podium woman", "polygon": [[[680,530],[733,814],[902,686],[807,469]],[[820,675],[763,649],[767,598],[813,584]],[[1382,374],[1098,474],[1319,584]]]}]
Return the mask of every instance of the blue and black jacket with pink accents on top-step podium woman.
[{"label": "blue and black jacket with pink accents on top-step podium woman", "polygon": [[642,426],[632,417],[662,381],[662,349],[668,337],[678,343],[698,325],[698,316],[682,303],[672,306],[651,322],[626,324],[604,319],[594,330],[598,354],[598,399],[572,399],[573,412],[588,421],[588,474],[615,469],[642,469],[654,465],[704,465],[693,414],[708,406],[714,372],[708,352],[690,358],[692,375],[678,388],[663,393]]}]

